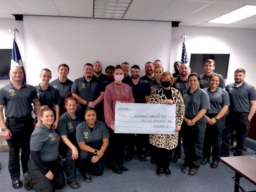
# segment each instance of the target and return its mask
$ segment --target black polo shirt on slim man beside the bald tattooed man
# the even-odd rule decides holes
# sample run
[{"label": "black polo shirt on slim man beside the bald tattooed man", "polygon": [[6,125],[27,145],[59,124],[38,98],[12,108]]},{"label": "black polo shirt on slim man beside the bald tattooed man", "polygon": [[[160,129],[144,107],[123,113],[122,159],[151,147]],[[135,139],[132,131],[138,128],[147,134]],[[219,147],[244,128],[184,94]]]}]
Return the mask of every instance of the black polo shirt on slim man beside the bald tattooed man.
[{"label": "black polo shirt on slim man beside the bald tattooed man", "polygon": [[54,109],[54,105],[60,104],[59,91],[49,85],[48,89],[42,90],[40,84],[35,86],[37,90],[37,97],[42,105],[48,105],[49,108]]}]

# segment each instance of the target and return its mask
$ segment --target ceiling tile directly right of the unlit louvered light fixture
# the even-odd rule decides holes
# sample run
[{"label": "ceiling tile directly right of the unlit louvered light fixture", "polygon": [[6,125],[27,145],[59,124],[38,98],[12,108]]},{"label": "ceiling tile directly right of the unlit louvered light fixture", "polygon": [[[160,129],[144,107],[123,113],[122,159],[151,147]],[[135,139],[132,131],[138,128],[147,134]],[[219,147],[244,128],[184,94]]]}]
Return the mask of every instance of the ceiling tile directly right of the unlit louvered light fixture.
[{"label": "ceiling tile directly right of the unlit louvered light fixture", "polygon": [[124,15],[124,19],[151,20],[172,0],[139,0],[132,1]]}]

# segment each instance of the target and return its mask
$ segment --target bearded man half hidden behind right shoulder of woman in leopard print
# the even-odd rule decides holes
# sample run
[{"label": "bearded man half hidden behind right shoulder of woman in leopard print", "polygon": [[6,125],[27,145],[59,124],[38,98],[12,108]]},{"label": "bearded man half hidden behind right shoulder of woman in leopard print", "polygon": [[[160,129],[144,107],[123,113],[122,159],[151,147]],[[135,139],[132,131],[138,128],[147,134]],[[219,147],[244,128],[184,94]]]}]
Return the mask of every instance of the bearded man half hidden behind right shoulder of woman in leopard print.
[{"label": "bearded man half hidden behind right shoulder of woman in leopard print", "polygon": [[[177,63],[176,61],[175,63]],[[174,63],[174,66],[175,66]],[[180,63],[180,62],[178,62]],[[189,88],[188,84],[188,65],[185,63],[182,63],[179,66],[179,74],[178,78],[174,79],[174,83],[172,87],[179,90],[181,93]],[[181,132],[178,132],[178,146],[174,148],[173,150],[174,154],[173,157],[170,159],[172,162],[176,163],[178,159],[181,158]]]}]

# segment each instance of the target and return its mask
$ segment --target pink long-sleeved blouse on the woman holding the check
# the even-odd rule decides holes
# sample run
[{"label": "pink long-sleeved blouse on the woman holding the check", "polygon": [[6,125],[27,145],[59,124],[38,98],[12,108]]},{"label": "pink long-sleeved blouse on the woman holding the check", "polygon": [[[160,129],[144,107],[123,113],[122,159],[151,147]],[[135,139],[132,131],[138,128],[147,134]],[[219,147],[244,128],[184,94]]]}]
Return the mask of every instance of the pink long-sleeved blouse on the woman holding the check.
[{"label": "pink long-sleeved blouse on the woman holding the check", "polygon": [[104,113],[108,127],[114,125],[116,101],[134,103],[131,87],[125,83],[110,83],[104,94]]}]

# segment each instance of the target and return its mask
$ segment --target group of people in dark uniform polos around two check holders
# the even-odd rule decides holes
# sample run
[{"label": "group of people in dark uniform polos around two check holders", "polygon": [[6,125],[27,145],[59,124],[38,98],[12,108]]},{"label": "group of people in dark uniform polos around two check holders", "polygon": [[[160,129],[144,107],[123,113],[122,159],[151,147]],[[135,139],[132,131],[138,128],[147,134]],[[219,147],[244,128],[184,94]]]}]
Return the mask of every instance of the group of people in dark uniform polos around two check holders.
[{"label": "group of people in dark uniform polos around two check holders", "polygon": [[[124,62],[121,67],[122,82],[131,87],[135,103],[147,102],[151,91],[161,87],[159,79],[164,69],[160,60],[147,62],[146,75],[141,78],[138,65],[130,67]],[[178,146],[173,149],[170,161],[177,162],[181,158],[182,139],[185,162],[181,171],[190,175],[197,173],[200,164],[209,163],[211,156],[210,166],[217,168],[220,157],[229,156],[229,140],[234,131],[237,132],[234,155],[243,155],[249,122],[256,110],[255,87],[244,81],[243,68],[236,69],[235,82],[227,86],[214,69],[215,62],[208,59],[204,62],[204,74],[189,75],[187,64],[174,63],[172,87],[182,93],[185,116],[178,134]],[[109,128],[105,124],[103,99],[105,87],[115,80],[114,66],[106,67],[105,72],[106,75],[102,74],[99,61],[93,65],[87,63],[83,77],[72,82],[67,78],[68,65],[61,64],[56,80],[50,82],[52,72],[45,68],[40,74],[40,84],[33,87],[23,83],[20,67],[11,68],[10,83],[0,89],[0,127],[10,148],[8,169],[13,188],[22,187],[19,160],[24,187],[36,191],[63,188],[62,169],[66,171],[69,186],[77,189],[75,166],[80,167],[86,182],[91,181],[90,173],[98,176],[103,174],[105,165],[112,168],[108,161],[111,159],[108,157],[111,154],[108,153]],[[31,117],[33,110],[35,120]],[[135,145],[140,161],[146,161],[151,155],[148,135],[126,134],[124,138],[126,161],[132,160]],[[65,166],[61,162],[65,162]],[[153,156],[150,162],[156,164]],[[123,167],[122,171],[126,170]],[[114,170],[118,174],[122,171]],[[158,170],[157,175],[162,174]]]}]

